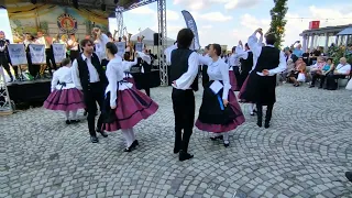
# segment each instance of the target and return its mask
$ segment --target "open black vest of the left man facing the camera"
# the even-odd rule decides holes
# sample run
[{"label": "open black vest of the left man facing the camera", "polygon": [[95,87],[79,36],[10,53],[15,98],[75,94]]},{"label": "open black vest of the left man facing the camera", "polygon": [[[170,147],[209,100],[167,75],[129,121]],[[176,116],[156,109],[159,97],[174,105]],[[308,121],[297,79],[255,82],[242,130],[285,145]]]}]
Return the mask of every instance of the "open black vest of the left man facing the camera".
[{"label": "open black vest of the left man facing the camera", "polygon": [[[87,91],[88,84],[90,82],[89,70],[88,70],[88,65],[87,65],[86,61],[81,57],[81,54],[79,54],[79,57],[77,58],[77,63],[78,63],[78,73],[79,73],[79,78],[80,78],[80,85],[81,85],[84,91]],[[92,55],[91,55],[91,64],[97,69],[100,82],[106,87],[108,79],[107,79],[106,74],[102,69],[100,61],[95,53],[92,53]]]}]

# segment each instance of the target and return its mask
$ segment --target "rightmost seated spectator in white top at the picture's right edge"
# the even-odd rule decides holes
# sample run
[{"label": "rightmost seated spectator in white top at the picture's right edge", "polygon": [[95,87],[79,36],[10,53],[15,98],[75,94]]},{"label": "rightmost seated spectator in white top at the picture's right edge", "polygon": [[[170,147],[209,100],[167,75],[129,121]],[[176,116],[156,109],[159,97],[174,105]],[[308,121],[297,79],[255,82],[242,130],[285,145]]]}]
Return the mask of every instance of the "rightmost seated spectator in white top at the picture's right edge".
[{"label": "rightmost seated spectator in white top at the picture's right edge", "polygon": [[327,89],[336,90],[338,88],[337,79],[344,79],[350,76],[351,65],[346,63],[345,57],[340,58],[340,64],[336,67],[333,73],[327,76]]}]

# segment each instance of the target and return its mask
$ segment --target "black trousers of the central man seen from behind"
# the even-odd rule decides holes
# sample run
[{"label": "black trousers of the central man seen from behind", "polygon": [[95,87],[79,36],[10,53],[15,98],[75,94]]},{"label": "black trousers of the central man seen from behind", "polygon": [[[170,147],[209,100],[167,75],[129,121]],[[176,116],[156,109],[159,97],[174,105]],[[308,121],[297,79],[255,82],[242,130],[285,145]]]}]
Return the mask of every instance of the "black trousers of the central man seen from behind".
[{"label": "black trousers of the central man seen from behind", "polygon": [[[175,150],[187,153],[195,122],[196,102],[191,89],[173,89],[173,109],[175,114]],[[183,133],[184,132],[184,133]]]}]

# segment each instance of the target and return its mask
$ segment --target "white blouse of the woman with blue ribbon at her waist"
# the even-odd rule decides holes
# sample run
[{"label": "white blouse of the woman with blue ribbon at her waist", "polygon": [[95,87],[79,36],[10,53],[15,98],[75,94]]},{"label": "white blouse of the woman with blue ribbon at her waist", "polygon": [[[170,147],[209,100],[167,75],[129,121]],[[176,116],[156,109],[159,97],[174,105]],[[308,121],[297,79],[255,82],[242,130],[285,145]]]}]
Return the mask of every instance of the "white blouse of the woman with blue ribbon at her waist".
[{"label": "white blouse of the woman with blue ribbon at her waist", "polygon": [[229,65],[219,57],[217,62],[211,62],[208,64],[208,75],[210,80],[222,80],[222,99],[228,100],[229,90],[231,89]]}]

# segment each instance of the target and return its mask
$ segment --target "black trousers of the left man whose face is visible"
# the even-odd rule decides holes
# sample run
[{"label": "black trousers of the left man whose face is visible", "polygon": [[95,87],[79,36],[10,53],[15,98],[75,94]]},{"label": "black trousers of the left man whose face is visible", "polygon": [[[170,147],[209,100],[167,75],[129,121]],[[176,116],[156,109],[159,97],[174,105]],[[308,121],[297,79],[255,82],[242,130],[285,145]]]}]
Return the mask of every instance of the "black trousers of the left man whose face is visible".
[{"label": "black trousers of the left man whose face is visible", "polygon": [[[96,133],[96,116],[98,111],[97,103],[99,105],[100,112],[102,111],[103,107],[103,98],[105,98],[105,87],[101,82],[91,82],[88,86],[87,90],[84,90],[84,98],[86,103],[86,110],[88,113],[87,121],[88,121],[88,129],[89,134],[91,136],[97,136]],[[102,117],[101,113],[98,119],[97,129],[102,130]]]}]

